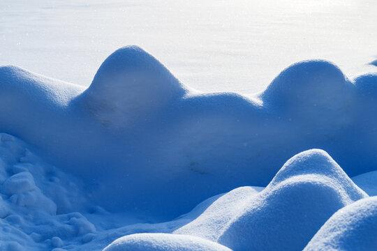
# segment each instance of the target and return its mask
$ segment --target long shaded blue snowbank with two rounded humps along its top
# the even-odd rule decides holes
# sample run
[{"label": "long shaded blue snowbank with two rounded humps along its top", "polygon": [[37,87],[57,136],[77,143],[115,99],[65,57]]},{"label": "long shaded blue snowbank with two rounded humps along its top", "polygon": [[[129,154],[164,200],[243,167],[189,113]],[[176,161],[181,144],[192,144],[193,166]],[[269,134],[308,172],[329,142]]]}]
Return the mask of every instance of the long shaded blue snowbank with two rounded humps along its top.
[{"label": "long shaded blue snowbank with two rounded humps along its top", "polygon": [[82,178],[108,211],[168,220],[222,192],[267,185],[306,149],[324,149],[350,176],[376,170],[376,83],[304,61],[252,99],[193,93],[130,46],[111,54],[85,91],[0,68],[0,131]]}]

